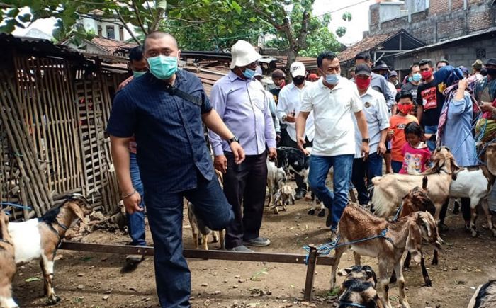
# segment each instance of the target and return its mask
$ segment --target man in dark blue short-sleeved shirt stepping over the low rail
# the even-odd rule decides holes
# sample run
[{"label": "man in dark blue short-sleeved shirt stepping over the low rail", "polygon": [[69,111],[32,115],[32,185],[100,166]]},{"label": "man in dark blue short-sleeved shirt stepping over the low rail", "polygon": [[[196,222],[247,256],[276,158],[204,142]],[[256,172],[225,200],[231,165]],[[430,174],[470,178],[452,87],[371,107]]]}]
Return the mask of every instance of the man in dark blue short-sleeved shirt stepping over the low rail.
[{"label": "man in dark blue short-sleeved shirt stepping over the low rail", "polygon": [[[210,229],[234,218],[203,137],[201,121],[226,139],[239,164],[238,139],[212,109],[200,79],[177,69],[179,49],[172,35],[154,32],[144,42],[150,73],[115,96],[107,132],[123,201],[129,213],[141,211],[140,194],[130,179],[128,143],[135,135],[137,161],[147,196],[147,216],[154,241],[157,293],[162,307],[190,307],[191,277],[183,256],[183,198]],[[177,89],[173,92],[171,86]]]}]

